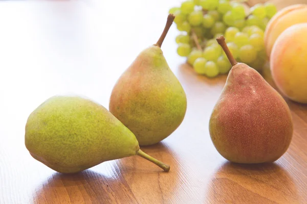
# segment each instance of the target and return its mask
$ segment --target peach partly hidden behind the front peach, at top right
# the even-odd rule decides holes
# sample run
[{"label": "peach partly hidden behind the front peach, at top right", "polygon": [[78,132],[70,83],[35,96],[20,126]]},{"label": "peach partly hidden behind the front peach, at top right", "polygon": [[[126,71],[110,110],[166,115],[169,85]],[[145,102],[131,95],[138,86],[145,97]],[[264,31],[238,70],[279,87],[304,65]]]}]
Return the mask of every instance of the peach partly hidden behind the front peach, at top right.
[{"label": "peach partly hidden behind the front peach, at top right", "polygon": [[296,4],[281,9],[269,21],[265,31],[265,45],[268,57],[277,37],[291,25],[307,22],[307,5]]}]

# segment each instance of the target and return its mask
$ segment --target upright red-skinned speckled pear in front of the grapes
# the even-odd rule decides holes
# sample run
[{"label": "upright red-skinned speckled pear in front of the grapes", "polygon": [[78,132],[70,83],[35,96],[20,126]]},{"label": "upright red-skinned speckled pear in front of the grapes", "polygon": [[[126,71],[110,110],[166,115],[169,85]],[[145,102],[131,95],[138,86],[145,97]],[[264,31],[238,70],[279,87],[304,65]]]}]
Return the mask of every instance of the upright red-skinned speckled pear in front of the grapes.
[{"label": "upright red-skinned speckled pear in front of the grapes", "polygon": [[211,140],[231,162],[274,162],[292,140],[289,107],[255,69],[234,60],[223,36],[217,41],[232,68],[210,117]]}]

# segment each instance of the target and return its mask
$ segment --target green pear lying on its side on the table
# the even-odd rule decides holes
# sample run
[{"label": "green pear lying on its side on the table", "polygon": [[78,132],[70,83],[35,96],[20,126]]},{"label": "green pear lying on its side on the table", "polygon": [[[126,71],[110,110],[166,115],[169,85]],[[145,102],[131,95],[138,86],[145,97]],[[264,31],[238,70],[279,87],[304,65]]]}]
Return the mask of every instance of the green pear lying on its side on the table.
[{"label": "green pear lying on its side on the table", "polygon": [[37,107],[27,120],[25,144],[34,159],[61,173],[134,155],[170,168],[146,155],[108,110],[80,96],[53,96]]}]

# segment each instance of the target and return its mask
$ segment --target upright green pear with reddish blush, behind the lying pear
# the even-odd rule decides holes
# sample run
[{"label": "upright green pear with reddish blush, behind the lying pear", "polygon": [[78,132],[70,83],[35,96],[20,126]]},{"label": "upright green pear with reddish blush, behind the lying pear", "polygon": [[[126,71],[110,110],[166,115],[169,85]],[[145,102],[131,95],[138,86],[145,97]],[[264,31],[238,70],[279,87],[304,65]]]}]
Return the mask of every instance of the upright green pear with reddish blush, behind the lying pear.
[{"label": "upright green pear with reddish blush, behind the lying pear", "polygon": [[109,111],[136,135],[140,145],[168,137],[186,113],[186,94],[161,50],[173,19],[168,15],[158,42],[144,49],[121,75],[109,101]]}]

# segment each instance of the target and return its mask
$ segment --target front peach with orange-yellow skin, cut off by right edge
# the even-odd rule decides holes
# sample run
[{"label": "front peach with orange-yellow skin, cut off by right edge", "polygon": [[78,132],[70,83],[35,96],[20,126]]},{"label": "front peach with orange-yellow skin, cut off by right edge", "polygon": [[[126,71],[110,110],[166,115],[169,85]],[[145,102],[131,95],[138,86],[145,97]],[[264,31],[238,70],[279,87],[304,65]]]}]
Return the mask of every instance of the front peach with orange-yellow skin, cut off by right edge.
[{"label": "front peach with orange-yellow skin, cut off by right edge", "polygon": [[284,30],[270,56],[272,78],[277,88],[290,99],[307,103],[307,23]]}]

